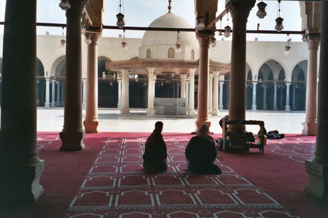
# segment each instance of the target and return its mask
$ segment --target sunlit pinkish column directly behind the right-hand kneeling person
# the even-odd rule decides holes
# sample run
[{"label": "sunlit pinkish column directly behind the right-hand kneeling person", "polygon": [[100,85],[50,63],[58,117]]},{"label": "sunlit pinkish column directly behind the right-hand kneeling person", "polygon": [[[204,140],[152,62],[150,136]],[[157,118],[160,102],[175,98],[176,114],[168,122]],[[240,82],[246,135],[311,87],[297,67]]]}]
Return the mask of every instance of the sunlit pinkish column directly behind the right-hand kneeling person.
[{"label": "sunlit pinkish column directly behind the right-hand kneeling person", "polygon": [[199,73],[198,73],[198,107],[197,107],[197,120],[196,132],[201,124],[208,122],[208,70],[209,70],[209,59],[208,59],[208,48],[210,38],[208,36],[198,36],[200,45],[199,55]]}]

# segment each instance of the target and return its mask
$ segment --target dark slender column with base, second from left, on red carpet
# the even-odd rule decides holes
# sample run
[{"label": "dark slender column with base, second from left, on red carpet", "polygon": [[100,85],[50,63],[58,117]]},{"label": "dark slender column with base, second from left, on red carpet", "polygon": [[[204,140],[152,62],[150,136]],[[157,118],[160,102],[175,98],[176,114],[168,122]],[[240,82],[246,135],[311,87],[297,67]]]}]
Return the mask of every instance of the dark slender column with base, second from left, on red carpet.
[{"label": "dark slender column with base, second from left, on red carpet", "polygon": [[87,0],[70,0],[66,11],[66,75],[64,125],[60,132],[62,151],[84,149],[82,126],[82,9]]}]

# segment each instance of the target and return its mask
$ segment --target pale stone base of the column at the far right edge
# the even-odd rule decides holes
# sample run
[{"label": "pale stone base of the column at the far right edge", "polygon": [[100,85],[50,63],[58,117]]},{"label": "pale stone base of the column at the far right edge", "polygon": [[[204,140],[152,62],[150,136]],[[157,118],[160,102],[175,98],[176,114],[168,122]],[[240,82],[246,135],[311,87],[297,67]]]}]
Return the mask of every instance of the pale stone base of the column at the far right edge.
[{"label": "pale stone base of the column at the far right edge", "polygon": [[328,164],[317,164],[311,160],[305,161],[309,182],[305,191],[318,199],[328,200]]}]

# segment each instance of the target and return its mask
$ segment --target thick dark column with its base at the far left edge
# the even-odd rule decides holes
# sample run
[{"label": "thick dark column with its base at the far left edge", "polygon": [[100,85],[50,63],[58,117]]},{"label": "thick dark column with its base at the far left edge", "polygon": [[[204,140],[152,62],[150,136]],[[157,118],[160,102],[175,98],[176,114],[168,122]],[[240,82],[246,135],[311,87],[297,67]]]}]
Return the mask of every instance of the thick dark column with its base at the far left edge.
[{"label": "thick dark column with its base at the far left edge", "polygon": [[37,151],[36,18],[36,0],[6,2],[1,73],[1,209],[9,205],[15,210],[38,200],[43,193],[39,181],[44,161]]}]

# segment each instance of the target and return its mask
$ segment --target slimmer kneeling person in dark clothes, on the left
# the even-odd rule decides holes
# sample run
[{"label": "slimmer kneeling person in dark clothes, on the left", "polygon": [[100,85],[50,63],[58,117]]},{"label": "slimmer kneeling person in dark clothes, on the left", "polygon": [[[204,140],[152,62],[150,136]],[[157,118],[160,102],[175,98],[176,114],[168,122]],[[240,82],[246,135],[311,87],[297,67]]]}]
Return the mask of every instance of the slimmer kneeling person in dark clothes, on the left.
[{"label": "slimmer kneeling person in dark clothes, on the left", "polygon": [[147,138],[144,145],[143,167],[147,173],[163,172],[167,169],[166,144],[161,134],[163,123],[155,123],[155,129]]}]

